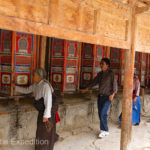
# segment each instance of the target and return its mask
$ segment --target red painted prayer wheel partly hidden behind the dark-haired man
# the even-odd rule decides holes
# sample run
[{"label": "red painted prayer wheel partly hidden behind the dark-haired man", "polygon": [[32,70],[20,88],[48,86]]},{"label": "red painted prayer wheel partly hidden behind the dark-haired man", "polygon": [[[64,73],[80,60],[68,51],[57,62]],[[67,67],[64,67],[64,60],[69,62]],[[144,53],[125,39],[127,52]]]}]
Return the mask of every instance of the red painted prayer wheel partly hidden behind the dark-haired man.
[{"label": "red painted prayer wheel partly hidden behind the dark-haired man", "polygon": [[100,45],[83,44],[81,87],[86,87],[100,71],[100,61],[105,56],[106,48]]}]

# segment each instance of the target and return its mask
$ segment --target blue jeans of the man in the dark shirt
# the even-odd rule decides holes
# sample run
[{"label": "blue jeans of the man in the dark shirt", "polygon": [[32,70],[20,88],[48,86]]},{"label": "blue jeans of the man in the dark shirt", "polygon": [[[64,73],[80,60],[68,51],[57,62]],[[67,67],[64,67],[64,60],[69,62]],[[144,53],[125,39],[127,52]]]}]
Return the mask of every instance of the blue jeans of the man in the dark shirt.
[{"label": "blue jeans of the man in the dark shirt", "polygon": [[108,125],[107,125],[107,111],[109,109],[109,106],[111,104],[111,101],[109,100],[109,96],[98,96],[98,115],[100,119],[100,129],[103,131],[108,131]]}]

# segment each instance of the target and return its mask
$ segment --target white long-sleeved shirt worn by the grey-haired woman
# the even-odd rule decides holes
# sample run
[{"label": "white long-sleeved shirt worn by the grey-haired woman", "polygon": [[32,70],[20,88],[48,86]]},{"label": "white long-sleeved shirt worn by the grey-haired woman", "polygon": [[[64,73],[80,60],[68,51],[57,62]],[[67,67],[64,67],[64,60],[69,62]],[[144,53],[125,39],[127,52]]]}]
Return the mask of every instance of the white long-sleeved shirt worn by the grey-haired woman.
[{"label": "white long-sleeved shirt worn by the grey-haired woman", "polygon": [[33,95],[35,97],[35,100],[39,100],[40,98],[44,98],[44,118],[50,118],[51,117],[51,108],[52,108],[52,93],[53,88],[50,84],[45,82],[44,80],[41,80],[38,84],[34,83],[33,85],[30,85],[27,88],[16,86],[16,92],[29,94],[33,92]]}]

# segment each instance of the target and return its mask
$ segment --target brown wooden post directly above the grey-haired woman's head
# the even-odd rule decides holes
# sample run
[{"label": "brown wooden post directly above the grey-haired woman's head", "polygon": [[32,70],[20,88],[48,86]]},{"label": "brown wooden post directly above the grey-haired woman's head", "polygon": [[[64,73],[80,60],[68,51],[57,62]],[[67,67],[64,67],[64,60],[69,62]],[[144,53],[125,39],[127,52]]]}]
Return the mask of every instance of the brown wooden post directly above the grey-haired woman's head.
[{"label": "brown wooden post directly above the grey-haired woman's head", "polygon": [[41,37],[40,67],[45,69],[46,36]]}]

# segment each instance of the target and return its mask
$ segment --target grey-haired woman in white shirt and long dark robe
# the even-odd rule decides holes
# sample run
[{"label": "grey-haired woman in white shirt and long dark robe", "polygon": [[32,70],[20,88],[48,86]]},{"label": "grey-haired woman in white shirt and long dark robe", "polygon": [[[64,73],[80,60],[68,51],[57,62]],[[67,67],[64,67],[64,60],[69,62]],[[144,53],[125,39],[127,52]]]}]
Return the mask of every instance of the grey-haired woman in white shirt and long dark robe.
[{"label": "grey-haired woman in white shirt and long dark robe", "polygon": [[33,85],[28,88],[16,86],[16,92],[35,97],[34,107],[38,110],[35,150],[53,150],[58,139],[56,134],[56,110],[58,103],[51,84],[45,79],[46,71],[38,68],[34,71]]}]

